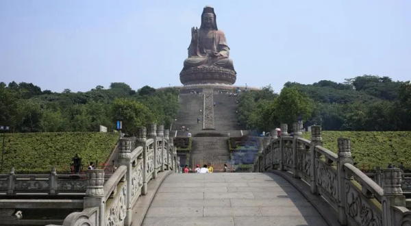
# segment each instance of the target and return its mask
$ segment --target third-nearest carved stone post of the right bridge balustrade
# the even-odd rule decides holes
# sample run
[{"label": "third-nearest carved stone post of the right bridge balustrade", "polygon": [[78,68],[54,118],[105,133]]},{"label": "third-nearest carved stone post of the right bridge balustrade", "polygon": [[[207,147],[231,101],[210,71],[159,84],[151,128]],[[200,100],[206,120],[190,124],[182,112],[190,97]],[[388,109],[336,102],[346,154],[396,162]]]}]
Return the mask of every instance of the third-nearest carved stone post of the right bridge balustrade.
[{"label": "third-nearest carved stone post of the right bridge balustrade", "polygon": [[321,125],[311,126],[311,145],[310,145],[310,188],[312,194],[317,194],[316,187],[316,166],[315,162],[319,155],[315,153],[315,147],[323,147],[323,137],[321,136]]}]

